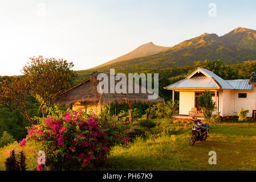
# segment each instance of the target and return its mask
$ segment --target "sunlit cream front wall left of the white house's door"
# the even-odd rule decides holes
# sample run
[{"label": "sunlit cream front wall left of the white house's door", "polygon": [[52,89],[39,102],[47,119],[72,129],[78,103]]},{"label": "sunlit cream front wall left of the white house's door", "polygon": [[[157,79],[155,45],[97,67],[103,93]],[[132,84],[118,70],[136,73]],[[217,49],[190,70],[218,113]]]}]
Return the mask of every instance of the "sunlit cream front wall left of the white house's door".
[{"label": "sunlit cream front wall left of the white house's door", "polygon": [[194,92],[180,92],[179,114],[188,115],[194,107]]}]

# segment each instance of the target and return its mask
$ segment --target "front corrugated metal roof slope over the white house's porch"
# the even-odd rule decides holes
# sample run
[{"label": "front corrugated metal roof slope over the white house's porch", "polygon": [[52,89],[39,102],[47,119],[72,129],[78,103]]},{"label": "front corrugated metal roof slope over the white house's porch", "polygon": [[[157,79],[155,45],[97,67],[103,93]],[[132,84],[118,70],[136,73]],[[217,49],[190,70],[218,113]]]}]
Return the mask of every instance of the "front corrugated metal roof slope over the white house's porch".
[{"label": "front corrugated metal roof slope over the white house's porch", "polygon": [[172,88],[219,88],[219,86],[212,78],[206,76],[194,76],[165,87],[165,89]]}]

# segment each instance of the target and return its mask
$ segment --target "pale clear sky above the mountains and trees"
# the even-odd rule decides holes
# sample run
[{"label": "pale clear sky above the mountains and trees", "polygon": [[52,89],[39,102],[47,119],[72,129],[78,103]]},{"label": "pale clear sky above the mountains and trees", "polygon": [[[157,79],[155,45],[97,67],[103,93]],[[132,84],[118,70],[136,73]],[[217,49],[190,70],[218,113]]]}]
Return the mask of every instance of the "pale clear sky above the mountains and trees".
[{"label": "pale clear sky above the mountains and trees", "polygon": [[201,34],[256,30],[256,1],[0,1],[0,75],[21,75],[29,57],[95,67],[153,42],[171,47]]}]

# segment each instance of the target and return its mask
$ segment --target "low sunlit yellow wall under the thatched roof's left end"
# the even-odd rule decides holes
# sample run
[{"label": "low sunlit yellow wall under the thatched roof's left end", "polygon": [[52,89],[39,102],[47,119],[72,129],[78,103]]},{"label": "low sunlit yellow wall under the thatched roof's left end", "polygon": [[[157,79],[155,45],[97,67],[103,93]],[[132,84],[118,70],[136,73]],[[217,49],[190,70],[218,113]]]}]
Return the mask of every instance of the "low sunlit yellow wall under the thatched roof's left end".
[{"label": "low sunlit yellow wall under the thatched roof's left end", "polygon": [[80,102],[75,102],[74,104],[72,104],[72,110],[83,110],[87,113],[90,113],[90,111],[92,111],[95,114],[99,114],[101,111],[101,106],[99,104],[81,104]]}]

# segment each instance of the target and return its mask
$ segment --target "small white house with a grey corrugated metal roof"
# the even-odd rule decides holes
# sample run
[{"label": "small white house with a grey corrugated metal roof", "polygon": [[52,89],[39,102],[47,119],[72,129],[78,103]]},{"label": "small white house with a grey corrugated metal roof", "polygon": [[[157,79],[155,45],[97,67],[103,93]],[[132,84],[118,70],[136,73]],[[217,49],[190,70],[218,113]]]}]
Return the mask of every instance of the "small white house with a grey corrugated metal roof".
[{"label": "small white house with a grey corrugated metal roof", "polygon": [[216,113],[222,117],[235,116],[241,109],[249,109],[247,117],[253,117],[256,110],[256,88],[249,80],[223,80],[211,71],[197,68],[184,80],[165,89],[180,92],[179,114],[189,115],[192,107],[198,107],[198,97],[210,90],[212,98],[216,102]]}]

